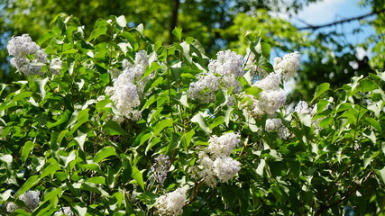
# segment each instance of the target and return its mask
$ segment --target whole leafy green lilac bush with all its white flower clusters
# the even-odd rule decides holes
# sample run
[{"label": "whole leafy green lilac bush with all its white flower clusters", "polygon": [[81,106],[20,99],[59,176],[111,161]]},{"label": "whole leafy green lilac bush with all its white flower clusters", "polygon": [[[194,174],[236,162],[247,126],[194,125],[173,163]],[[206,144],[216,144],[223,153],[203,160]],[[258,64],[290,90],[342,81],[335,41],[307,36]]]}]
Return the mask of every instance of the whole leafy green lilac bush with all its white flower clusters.
[{"label": "whole leafy green lilac bush with all its white flower clusters", "polygon": [[285,104],[300,55],[271,64],[263,32],[210,59],[178,28],[53,23],[8,42],[2,215],[384,214],[385,73]]}]

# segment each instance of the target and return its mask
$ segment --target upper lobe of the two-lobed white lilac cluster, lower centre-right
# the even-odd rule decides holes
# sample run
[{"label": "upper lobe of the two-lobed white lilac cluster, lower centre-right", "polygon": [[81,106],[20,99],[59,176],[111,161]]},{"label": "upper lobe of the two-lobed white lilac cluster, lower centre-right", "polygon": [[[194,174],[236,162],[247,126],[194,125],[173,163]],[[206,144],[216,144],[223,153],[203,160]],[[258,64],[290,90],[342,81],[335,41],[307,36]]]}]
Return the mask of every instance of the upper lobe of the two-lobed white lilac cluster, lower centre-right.
[{"label": "upper lobe of the two-lobed white lilac cluster, lower centre-right", "polygon": [[209,145],[207,152],[213,157],[229,156],[240,142],[241,139],[239,134],[234,132],[225,133],[220,137],[214,135],[208,139]]}]

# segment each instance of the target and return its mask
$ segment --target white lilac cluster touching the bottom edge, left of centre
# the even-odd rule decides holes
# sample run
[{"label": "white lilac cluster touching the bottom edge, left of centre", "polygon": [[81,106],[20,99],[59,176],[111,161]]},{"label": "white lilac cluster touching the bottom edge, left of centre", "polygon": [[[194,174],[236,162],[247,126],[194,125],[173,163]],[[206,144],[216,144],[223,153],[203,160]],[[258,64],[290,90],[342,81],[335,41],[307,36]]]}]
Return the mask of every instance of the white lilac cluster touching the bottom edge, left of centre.
[{"label": "white lilac cluster touching the bottom edge, left of centre", "polygon": [[158,197],[155,201],[157,215],[174,216],[183,212],[183,207],[187,202],[187,191],[183,188],[166,193]]}]

